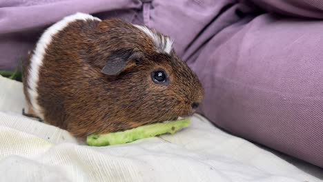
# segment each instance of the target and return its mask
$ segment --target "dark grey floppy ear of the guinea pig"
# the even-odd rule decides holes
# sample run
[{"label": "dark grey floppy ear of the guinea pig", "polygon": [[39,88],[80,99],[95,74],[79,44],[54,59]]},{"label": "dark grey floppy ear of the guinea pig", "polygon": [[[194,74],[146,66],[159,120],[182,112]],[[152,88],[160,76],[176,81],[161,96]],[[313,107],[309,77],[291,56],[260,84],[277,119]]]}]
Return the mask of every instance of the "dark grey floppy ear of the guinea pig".
[{"label": "dark grey floppy ear of the guinea pig", "polygon": [[133,50],[116,50],[108,57],[108,61],[102,68],[101,73],[109,76],[119,75],[126,68],[135,65],[132,60],[139,59],[139,57],[141,57],[141,54]]}]

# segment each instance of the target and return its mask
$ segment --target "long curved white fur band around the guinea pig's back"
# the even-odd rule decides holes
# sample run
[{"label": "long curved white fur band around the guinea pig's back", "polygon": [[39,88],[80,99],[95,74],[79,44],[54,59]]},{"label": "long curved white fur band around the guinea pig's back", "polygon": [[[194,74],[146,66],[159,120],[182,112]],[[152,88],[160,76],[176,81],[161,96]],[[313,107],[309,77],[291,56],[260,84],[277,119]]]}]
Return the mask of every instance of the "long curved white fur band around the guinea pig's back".
[{"label": "long curved white fur band around the guinea pig's back", "polygon": [[97,20],[101,21],[96,17],[92,17],[90,14],[84,14],[81,12],[77,12],[76,14],[72,14],[68,17],[63,18],[61,21],[58,21],[54,25],[50,26],[43,34],[41,35],[39,41],[37,42],[36,48],[34,50],[34,54],[30,59],[30,70],[29,76],[27,78],[28,81],[28,95],[30,98],[30,102],[32,105],[32,109],[38,117],[43,119],[43,112],[41,106],[39,105],[38,99],[38,82],[39,82],[39,68],[43,65],[43,57],[46,54],[46,49],[48,45],[50,45],[52,41],[52,37],[57,34],[59,31],[63,30],[68,26],[69,23],[77,20]]}]

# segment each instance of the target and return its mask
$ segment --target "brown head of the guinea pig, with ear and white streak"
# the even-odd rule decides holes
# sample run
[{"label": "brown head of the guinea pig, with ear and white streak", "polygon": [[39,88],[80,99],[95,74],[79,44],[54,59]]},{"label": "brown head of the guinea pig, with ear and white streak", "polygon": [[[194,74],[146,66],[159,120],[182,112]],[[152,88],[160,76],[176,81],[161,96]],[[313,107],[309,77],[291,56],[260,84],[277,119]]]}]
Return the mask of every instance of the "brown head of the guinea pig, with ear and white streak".
[{"label": "brown head of the guinea pig, with ear and white streak", "polygon": [[[204,95],[197,75],[173,50],[173,41],[146,26],[102,21],[88,54],[100,69],[108,116],[133,127],[192,115]],[[99,55],[98,55],[99,54]]]}]

